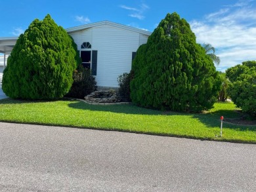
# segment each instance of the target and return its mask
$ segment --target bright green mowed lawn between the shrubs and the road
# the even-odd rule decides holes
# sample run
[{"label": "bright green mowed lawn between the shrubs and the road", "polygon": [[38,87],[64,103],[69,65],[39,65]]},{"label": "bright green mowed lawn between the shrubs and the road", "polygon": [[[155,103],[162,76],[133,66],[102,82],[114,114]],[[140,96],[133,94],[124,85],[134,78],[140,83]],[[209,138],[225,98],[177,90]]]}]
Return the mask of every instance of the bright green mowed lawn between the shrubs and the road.
[{"label": "bright green mowed lawn between the shrubs and the road", "polygon": [[256,144],[256,126],[223,122],[223,137],[219,136],[220,117],[239,118],[241,113],[236,110],[232,102],[216,103],[205,113],[177,113],[133,105],[92,106],[76,100],[5,99],[0,100],[0,121]]}]

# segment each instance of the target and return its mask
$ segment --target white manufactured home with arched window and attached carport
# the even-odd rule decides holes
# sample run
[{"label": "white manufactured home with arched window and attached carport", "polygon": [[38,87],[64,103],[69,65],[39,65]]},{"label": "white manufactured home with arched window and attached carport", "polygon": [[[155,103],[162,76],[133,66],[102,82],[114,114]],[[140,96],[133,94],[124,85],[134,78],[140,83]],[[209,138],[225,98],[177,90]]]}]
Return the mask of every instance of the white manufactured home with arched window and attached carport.
[{"label": "white manufactured home with arched window and attached carport", "polygon": [[[68,28],[66,31],[73,37],[82,64],[91,69],[98,87],[117,87],[117,77],[129,73],[137,49],[148,41],[151,34],[108,21]],[[17,39],[0,37],[0,53],[9,54]]]}]

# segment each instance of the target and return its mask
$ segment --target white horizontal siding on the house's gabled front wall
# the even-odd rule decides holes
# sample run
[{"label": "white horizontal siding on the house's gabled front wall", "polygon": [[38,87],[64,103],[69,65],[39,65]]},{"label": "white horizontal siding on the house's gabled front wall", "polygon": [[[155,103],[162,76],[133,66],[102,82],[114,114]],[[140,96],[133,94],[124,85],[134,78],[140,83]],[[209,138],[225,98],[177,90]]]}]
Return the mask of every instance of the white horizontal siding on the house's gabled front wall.
[{"label": "white horizontal siding on the house's gabled front wall", "polygon": [[97,86],[117,87],[117,77],[131,70],[132,52],[146,43],[148,36],[114,26],[96,26],[70,33],[80,49],[83,42],[90,42],[98,50]]}]

